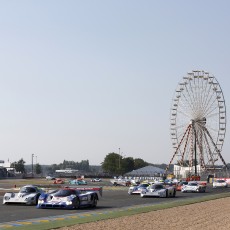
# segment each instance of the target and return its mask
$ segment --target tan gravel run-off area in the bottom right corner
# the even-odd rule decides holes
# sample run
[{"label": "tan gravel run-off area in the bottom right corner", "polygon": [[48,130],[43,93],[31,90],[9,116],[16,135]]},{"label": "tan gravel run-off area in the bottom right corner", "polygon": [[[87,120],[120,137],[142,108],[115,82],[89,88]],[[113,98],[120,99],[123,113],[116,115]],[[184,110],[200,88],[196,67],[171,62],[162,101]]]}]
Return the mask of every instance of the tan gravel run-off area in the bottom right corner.
[{"label": "tan gravel run-off area in the bottom right corner", "polygon": [[59,230],[227,230],[230,229],[230,197],[128,217],[78,224]]}]

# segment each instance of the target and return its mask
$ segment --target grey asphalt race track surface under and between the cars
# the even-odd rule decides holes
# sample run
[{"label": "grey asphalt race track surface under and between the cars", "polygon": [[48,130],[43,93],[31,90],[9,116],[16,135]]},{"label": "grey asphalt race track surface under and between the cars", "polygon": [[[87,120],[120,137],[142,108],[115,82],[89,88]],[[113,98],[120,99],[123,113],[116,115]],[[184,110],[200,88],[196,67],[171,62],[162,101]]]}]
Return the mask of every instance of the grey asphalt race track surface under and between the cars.
[{"label": "grey asphalt race track surface under and between the cars", "polygon": [[[188,199],[192,197],[201,197],[210,194],[230,192],[230,188],[213,189],[212,187],[207,186],[205,193],[181,193],[178,191],[175,198],[141,198],[139,195],[128,195],[127,190],[127,187],[113,186],[111,186],[111,189],[108,188],[104,190],[103,197],[99,200],[98,206],[95,210],[106,211],[133,205],[159,204],[161,202],[167,202],[172,199]],[[0,223],[75,214],[76,212],[84,213],[89,210],[94,210],[92,208],[82,208],[78,210],[37,209],[35,206],[3,205],[2,198],[3,196],[0,196]]]}]

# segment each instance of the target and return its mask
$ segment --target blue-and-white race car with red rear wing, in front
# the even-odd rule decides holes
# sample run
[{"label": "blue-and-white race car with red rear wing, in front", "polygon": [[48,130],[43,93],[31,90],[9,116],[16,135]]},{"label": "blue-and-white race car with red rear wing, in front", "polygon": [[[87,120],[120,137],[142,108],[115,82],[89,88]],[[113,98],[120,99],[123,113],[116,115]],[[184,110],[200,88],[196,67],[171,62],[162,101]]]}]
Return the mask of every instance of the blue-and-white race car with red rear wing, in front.
[{"label": "blue-and-white race car with red rear wing, in front", "polygon": [[59,189],[55,193],[43,193],[38,199],[37,208],[78,209],[84,206],[96,207],[102,196],[102,187]]}]

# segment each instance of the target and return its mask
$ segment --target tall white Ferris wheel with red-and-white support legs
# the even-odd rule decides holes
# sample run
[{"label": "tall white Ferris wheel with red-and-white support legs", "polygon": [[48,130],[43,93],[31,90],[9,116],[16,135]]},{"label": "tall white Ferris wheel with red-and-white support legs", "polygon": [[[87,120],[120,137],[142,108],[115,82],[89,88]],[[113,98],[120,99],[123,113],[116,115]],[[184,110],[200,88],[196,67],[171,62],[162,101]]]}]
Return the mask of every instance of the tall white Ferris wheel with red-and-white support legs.
[{"label": "tall white Ferris wheel with red-and-white support legs", "polygon": [[171,105],[170,132],[174,154],[169,165],[197,164],[204,170],[218,164],[227,167],[221,155],[226,132],[225,100],[210,73],[192,71],[178,84]]}]

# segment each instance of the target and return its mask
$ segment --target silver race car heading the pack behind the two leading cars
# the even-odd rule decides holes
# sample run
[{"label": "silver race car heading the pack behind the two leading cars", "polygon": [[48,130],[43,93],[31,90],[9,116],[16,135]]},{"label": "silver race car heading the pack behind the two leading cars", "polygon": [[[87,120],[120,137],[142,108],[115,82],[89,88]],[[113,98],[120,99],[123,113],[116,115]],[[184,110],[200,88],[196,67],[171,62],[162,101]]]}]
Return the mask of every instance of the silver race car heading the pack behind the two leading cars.
[{"label": "silver race car heading the pack behind the two leading cars", "polygon": [[152,184],[141,190],[141,197],[175,197],[176,189],[173,186],[165,187],[162,183]]}]

